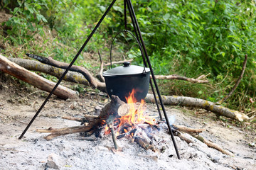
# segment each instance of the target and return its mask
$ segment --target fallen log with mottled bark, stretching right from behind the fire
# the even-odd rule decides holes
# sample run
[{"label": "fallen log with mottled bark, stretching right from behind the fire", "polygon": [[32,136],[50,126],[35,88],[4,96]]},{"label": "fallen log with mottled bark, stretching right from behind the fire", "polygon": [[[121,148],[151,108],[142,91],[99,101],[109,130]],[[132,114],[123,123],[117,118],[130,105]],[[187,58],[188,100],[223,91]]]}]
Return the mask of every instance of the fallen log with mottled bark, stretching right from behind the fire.
[{"label": "fallen log with mottled bark, stretching right from behind the fire", "polygon": [[[206,111],[211,111],[216,115],[223,115],[227,118],[233,118],[235,120],[244,121],[249,117],[239,111],[234,111],[229,108],[218,105],[210,101],[203,100],[201,98],[191,98],[185,96],[161,96],[164,105],[169,106],[191,106],[193,108],[204,108]],[[155,103],[154,96],[147,94],[145,98],[148,103]]]}]

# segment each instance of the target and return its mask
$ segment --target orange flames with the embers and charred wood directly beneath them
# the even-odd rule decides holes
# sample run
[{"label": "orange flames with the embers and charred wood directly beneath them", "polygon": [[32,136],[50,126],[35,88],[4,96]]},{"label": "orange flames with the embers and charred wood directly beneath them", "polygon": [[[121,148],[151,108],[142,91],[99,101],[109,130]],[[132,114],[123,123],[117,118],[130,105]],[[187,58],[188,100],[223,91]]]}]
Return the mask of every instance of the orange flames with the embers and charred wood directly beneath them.
[{"label": "orange flames with the embers and charred wood directly beneath them", "polygon": [[128,137],[144,147],[144,149],[151,149],[156,152],[157,149],[152,145],[153,142],[151,142],[153,136],[150,135],[151,131],[159,130],[156,125],[156,119],[146,115],[145,101],[143,99],[140,102],[137,101],[134,97],[135,93],[136,91],[133,89],[129,96],[126,97],[129,106],[127,114],[114,119],[114,126],[112,127],[114,130],[111,131],[111,128],[106,125],[105,134],[116,131],[115,134],[112,133],[115,149],[117,149],[115,138],[119,140],[122,137]]}]

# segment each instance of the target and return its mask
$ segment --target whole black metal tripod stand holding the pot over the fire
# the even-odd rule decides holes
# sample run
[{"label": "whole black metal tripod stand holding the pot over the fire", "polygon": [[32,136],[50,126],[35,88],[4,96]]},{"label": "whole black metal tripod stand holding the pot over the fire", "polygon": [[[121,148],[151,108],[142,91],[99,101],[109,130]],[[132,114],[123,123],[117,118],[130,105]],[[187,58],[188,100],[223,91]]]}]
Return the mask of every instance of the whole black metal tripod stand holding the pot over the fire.
[{"label": "whole black metal tripod stand holding the pot over the fire", "polygon": [[[36,112],[36,114],[33,116],[33,118],[31,119],[30,123],[28,123],[27,127],[25,128],[25,130],[23,130],[22,134],[20,137],[18,137],[19,140],[21,140],[21,138],[23,137],[23,135],[25,135],[26,131],[28,130],[28,128],[31,126],[31,124],[33,123],[33,121],[36,119],[36,117],[38,116],[38,114],[41,112],[41,110],[43,109],[43,107],[46,105],[47,101],[49,100],[50,96],[52,96],[53,92],[55,91],[55,89],[57,89],[58,85],[60,84],[60,82],[63,80],[63,78],[65,77],[65,75],[68,73],[68,71],[70,70],[70,67],[72,67],[72,65],[74,64],[75,60],[78,59],[78,56],[80,55],[80,53],[82,52],[82,50],[85,48],[85,45],[87,45],[87,43],[89,42],[90,38],[92,38],[92,35],[95,33],[95,31],[97,30],[97,28],[99,28],[100,24],[102,23],[102,21],[104,20],[105,16],[107,16],[107,13],[110,11],[110,9],[112,8],[112,6],[114,5],[116,0],[113,0],[112,3],[110,4],[110,6],[107,8],[107,11],[105,11],[105,13],[103,14],[102,18],[100,18],[100,21],[97,23],[97,25],[95,26],[95,28],[92,30],[92,33],[90,33],[90,35],[88,36],[87,40],[85,40],[85,43],[82,45],[82,47],[80,48],[80,50],[78,51],[77,55],[75,55],[74,59],[72,60],[72,62],[70,63],[70,65],[68,66],[68,68],[65,70],[65,72],[63,73],[62,77],[60,77],[59,81],[57,82],[57,84],[54,86],[53,90],[50,91],[50,94],[48,95],[48,97],[46,98],[46,100],[43,102],[42,106],[38,109],[38,111]],[[157,95],[159,96],[159,101],[160,101],[160,104],[161,104],[161,108],[163,110],[163,113],[164,113],[164,118],[166,119],[166,123],[167,123],[167,126],[169,128],[169,132],[171,134],[171,140],[173,141],[174,143],[174,148],[176,150],[176,154],[177,154],[177,157],[178,159],[181,159],[179,154],[178,154],[178,148],[176,146],[176,142],[174,140],[174,134],[171,130],[171,125],[169,123],[169,118],[168,116],[166,115],[166,111],[165,111],[165,108],[164,108],[164,103],[161,99],[161,94],[160,94],[160,91],[159,91],[159,88],[156,84],[156,79],[154,77],[154,71],[151,67],[151,63],[150,63],[150,60],[149,60],[149,56],[146,52],[146,47],[145,47],[145,44],[144,44],[144,41],[143,41],[143,38],[142,38],[142,33],[141,33],[141,30],[139,29],[139,24],[138,24],[138,21],[137,21],[137,18],[135,16],[135,13],[134,13],[134,8],[132,6],[132,1],[131,0],[124,0],[124,26],[125,26],[125,30],[127,30],[127,8],[129,10],[129,15],[132,19],[132,25],[134,27],[134,32],[135,32],[135,35],[137,37],[137,40],[139,40],[139,43],[140,45],[142,45],[142,49],[143,49],[143,52],[142,52],[142,57],[143,57],[143,61],[144,61],[144,64],[146,65],[146,67],[149,67],[150,71],[151,71],[151,76],[152,76],[152,79],[154,81],[154,86],[156,88],[156,93]],[[162,120],[162,115],[161,115],[161,112],[160,112],[160,109],[159,109],[159,105],[157,103],[157,100],[156,100],[156,94],[155,94],[155,91],[154,91],[154,86],[153,86],[153,83],[152,81],[150,80],[150,86],[151,86],[151,89],[153,91],[153,94],[154,94],[154,99],[156,101],[156,106],[157,106],[157,110],[159,111],[159,116],[160,116],[160,119]]]}]

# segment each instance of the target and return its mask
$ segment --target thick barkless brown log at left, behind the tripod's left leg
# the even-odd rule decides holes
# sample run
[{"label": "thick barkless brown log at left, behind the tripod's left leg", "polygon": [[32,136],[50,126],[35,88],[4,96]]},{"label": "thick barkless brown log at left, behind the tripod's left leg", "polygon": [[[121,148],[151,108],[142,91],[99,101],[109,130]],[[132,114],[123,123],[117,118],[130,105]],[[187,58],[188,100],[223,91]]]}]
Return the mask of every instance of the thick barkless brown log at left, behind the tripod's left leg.
[{"label": "thick barkless brown log at left, behind the tripod's left leg", "polygon": [[[38,76],[38,74],[30,72],[18,64],[7,60],[7,58],[3,55],[0,55],[0,71],[6,72],[7,74],[10,74],[17,79],[21,79],[28,84],[36,86],[38,89],[43,91],[50,92],[55,86],[55,83],[52,81],[44,79],[43,77]],[[58,86],[53,94],[63,99],[76,98],[78,96],[75,91],[68,89],[65,86]]]}]

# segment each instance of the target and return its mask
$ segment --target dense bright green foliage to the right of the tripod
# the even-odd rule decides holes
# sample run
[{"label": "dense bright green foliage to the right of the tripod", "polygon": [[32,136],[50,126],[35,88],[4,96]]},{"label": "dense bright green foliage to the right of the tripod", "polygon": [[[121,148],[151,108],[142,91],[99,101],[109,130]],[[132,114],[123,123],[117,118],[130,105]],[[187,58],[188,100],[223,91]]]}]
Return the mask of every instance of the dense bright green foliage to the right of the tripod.
[{"label": "dense bright green foliage to the right of the tripod", "polygon": [[[137,18],[156,74],[198,77],[210,73],[215,82],[223,81],[228,74],[223,90],[204,96],[218,101],[232,88],[230,82],[238,79],[247,54],[247,69],[237,91],[243,94],[242,98],[255,96],[255,1],[136,3],[135,11],[139,11]],[[240,106],[241,100],[235,101]],[[250,104],[248,100],[245,103]]]}]

